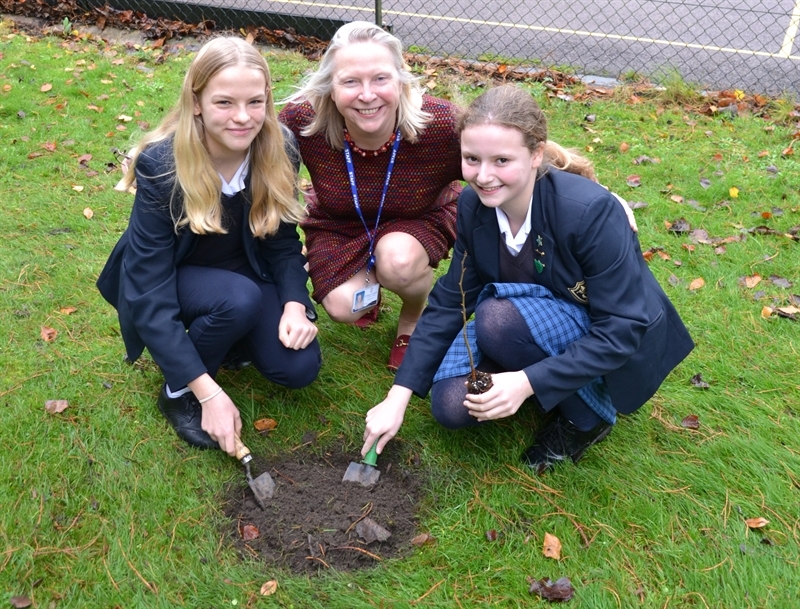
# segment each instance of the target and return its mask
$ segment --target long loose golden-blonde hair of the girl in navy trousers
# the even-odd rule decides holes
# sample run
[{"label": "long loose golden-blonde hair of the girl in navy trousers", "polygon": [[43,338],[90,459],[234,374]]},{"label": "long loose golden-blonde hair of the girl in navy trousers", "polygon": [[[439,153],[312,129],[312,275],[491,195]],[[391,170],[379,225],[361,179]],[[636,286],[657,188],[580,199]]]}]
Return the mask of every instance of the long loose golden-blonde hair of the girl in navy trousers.
[{"label": "long loose golden-blonde hair of the girl in navy trousers", "polygon": [[[222,180],[203,143],[202,116],[195,116],[194,108],[208,81],[233,66],[259,70],[267,84],[266,118],[250,144],[249,169],[250,230],[256,237],[263,238],[275,234],[281,221],[300,221],[304,212],[295,196],[295,172],[275,113],[269,66],[258,50],[241,38],[219,37],[203,45],[186,72],[177,103],[161,124],[142,138],[131,160],[131,168],[147,146],[174,137],[173,164],[166,168],[163,176],[175,179],[170,201],[175,230],[188,225],[199,235],[224,234],[220,203]],[[129,170],[123,186],[127,188],[134,179],[135,172]]]}]

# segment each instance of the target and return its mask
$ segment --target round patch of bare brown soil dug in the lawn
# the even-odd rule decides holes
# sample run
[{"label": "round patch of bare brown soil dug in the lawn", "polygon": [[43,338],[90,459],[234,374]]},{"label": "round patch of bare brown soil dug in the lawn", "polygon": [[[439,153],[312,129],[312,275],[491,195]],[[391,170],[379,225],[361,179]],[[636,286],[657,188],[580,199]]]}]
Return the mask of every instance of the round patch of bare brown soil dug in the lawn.
[{"label": "round patch of bare brown soil dug in the lawn", "polygon": [[224,512],[234,545],[244,556],[295,573],[369,568],[408,553],[422,476],[391,447],[380,456],[381,476],[371,487],[342,482],[349,463],[360,460],[357,452],[297,451],[269,463],[255,457],[253,476],[269,472],[275,494],[262,510],[244,475],[231,485]]}]

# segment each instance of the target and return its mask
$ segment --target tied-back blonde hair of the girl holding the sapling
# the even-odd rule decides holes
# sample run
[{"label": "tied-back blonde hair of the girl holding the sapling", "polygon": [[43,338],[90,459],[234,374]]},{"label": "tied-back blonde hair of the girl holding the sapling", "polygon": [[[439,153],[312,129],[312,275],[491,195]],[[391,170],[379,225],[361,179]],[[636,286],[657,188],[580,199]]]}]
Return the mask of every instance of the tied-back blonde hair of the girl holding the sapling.
[{"label": "tied-back blonde hair of the girl holding the sapling", "polygon": [[516,129],[522,134],[525,147],[531,152],[544,145],[544,158],[539,166],[539,175],[555,167],[597,181],[592,162],[580,152],[564,148],[547,139],[547,118],[536,100],[523,89],[514,85],[502,85],[489,89],[475,98],[462,111],[456,123],[461,133],[471,125],[500,125]]}]

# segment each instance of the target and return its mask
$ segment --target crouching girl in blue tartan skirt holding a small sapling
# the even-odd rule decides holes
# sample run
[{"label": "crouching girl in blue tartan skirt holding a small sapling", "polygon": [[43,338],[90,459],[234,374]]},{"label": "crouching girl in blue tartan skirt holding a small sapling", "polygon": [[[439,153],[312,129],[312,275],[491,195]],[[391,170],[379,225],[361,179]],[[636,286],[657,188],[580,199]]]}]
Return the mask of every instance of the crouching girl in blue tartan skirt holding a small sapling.
[{"label": "crouching girl in blue tartan skirt holding a small sapling", "polygon": [[[367,413],[362,450],[377,442],[380,452],[397,433],[412,393],[431,390],[434,416],[452,429],[511,416],[535,396],[556,410],[523,455],[541,473],[603,440],[616,414],[647,401],[693,342],[623,206],[568,172],[585,171],[586,160],[573,163],[548,142],[527,92],[490,89],[458,129],[470,188],[459,198],[453,263],[431,292],[394,386]],[[567,171],[552,167],[553,151]],[[465,387],[462,294],[467,317],[475,312],[475,355],[497,373],[477,395]]]}]

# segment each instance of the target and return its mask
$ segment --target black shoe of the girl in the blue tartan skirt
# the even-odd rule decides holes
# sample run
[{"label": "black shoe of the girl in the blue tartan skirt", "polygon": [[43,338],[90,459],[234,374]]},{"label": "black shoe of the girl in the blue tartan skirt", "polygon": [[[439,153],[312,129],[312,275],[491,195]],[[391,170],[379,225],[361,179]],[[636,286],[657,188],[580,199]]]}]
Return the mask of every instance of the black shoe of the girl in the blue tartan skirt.
[{"label": "black shoe of the girl in the blue tartan skirt", "polygon": [[537,474],[567,457],[577,463],[587,448],[602,442],[611,433],[611,427],[601,422],[589,431],[581,431],[559,415],[536,435],[533,446],[522,454],[522,461]]}]

